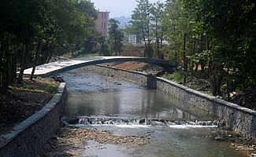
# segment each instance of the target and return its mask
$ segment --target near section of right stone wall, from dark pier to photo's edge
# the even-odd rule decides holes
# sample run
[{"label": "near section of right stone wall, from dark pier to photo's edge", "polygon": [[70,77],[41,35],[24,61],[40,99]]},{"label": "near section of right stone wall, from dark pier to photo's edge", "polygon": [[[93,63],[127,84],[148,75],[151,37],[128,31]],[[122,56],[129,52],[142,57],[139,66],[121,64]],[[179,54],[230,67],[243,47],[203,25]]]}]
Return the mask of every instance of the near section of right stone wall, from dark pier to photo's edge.
[{"label": "near section of right stone wall, from dark pier to photo's edge", "polygon": [[217,115],[236,133],[241,133],[247,138],[256,137],[256,111],[200,93],[167,79],[155,78],[154,81],[156,89],[182,100],[187,108],[201,108],[209,114]]}]

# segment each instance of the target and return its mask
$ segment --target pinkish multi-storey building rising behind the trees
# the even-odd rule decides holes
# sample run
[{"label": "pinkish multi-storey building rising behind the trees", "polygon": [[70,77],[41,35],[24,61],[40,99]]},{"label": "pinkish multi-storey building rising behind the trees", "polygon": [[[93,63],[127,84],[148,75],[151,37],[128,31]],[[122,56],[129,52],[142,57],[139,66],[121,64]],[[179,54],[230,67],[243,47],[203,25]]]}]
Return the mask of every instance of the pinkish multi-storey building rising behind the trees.
[{"label": "pinkish multi-storey building rising behind the trees", "polygon": [[98,12],[97,19],[95,20],[95,29],[105,37],[108,35],[108,22],[109,12]]}]

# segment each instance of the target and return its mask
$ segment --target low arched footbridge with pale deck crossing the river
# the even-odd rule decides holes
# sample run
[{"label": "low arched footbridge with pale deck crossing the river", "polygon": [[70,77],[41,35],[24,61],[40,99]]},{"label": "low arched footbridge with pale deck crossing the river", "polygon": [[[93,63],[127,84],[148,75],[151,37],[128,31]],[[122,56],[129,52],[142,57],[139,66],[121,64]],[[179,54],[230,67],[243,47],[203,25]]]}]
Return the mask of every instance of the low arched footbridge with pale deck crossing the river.
[{"label": "low arched footbridge with pale deck crossing the river", "polygon": [[[150,64],[158,64],[163,68],[173,68],[174,65],[169,63],[166,60],[158,60],[152,58],[144,58],[144,57],[83,57],[83,58],[76,58],[58,62],[52,62],[49,64],[39,65],[35,68],[35,75],[39,76],[49,76],[54,75],[58,72],[62,71],[69,71],[75,68],[81,68],[87,65],[94,65],[94,64],[104,64],[104,63],[111,63],[116,61],[139,61],[145,62]],[[30,75],[32,73],[32,68],[26,69],[24,71],[25,75]]]}]

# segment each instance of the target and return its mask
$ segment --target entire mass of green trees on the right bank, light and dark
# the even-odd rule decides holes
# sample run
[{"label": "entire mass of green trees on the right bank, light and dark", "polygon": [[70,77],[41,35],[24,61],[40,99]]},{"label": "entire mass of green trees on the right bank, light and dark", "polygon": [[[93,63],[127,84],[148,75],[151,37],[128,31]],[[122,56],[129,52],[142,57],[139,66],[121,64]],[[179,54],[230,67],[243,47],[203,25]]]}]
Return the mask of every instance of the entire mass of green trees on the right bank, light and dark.
[{"label": "entire mass of green trees on the right bank, light and dark", "polygon": [[[208,75],[213,95],[256,89],[254,1],[168,0],[161,17],[169,60]],[[253,44],[254,43],[254,44]],[[191,73],[193,75],[193,73]],[[187,73],[186,75],[191,75]]]}]

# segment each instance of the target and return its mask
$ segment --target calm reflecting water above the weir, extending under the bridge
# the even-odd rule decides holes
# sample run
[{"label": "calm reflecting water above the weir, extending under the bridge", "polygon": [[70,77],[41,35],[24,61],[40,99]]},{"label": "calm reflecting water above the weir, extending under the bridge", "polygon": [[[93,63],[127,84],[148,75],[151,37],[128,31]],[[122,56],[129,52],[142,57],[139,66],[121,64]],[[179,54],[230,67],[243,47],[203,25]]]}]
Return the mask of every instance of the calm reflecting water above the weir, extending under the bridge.
[{"label": "calm reflecting water above the weir, extending under the bridge", "polygon": [[168,95],[121,80],[96,74],[76,75],[73,71],[65,73],[64,79],[69,85],[67,115],[209,119],[202,112],[185,111]]}]

